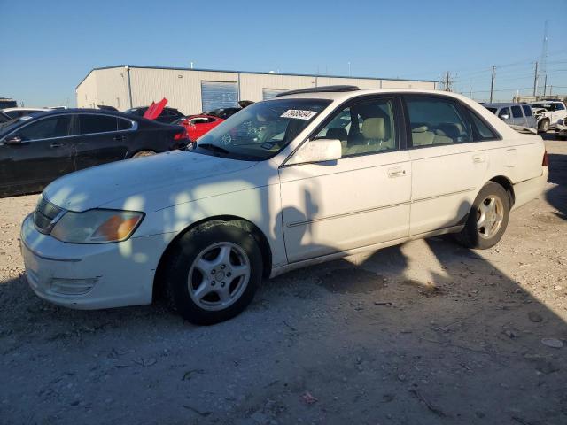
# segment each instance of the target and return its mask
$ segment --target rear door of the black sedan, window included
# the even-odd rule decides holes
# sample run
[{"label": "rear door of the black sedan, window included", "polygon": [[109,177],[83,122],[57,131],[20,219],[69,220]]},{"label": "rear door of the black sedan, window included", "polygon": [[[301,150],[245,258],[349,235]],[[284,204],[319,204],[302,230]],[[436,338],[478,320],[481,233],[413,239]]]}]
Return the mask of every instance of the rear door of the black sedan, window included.
[{"label": "rear door of the black sedan, window included", "polygon": [[79,113],[74,125],[74,160],[78,170],[126,158],[136,121],[115,115]]}]

